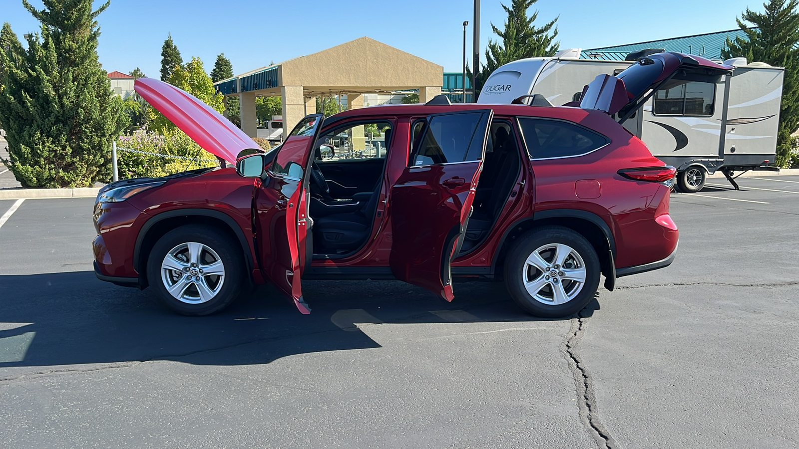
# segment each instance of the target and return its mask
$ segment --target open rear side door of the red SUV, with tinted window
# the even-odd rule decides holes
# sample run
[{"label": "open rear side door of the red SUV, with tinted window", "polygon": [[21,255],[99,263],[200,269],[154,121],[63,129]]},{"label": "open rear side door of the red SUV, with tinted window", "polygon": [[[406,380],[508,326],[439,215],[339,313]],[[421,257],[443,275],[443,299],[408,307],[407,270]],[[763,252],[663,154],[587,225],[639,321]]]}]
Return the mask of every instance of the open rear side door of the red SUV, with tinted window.
[{"label": "open rear side door of the red SUV, with tinted window", "polygon": [[493,116],[475,109],[427,117],[392,186],[392,272],[447,301],[454,297],[450,262],[466,231]]}]

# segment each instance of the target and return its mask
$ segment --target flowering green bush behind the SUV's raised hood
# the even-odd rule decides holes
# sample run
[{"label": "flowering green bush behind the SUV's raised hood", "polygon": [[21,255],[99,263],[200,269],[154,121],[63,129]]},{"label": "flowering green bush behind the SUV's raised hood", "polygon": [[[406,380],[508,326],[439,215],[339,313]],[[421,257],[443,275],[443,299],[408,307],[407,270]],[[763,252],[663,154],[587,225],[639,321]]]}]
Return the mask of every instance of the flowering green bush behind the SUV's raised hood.
[{"label": "flowering green bush behind the SUV's raised hood", "polygon": [[120,179],[162,177],[190,169],[214,167],[219,161],[180,130],[164,135],[137,132],[117,139]]}]

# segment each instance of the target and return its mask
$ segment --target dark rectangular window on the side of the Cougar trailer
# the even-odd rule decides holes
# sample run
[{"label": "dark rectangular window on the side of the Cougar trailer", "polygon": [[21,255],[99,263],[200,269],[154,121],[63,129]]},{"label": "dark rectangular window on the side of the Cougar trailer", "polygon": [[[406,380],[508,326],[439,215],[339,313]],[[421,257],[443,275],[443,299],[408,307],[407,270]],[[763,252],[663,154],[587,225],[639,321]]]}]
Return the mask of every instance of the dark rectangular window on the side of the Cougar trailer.
[{"label": "dark rectangular window on the side of the Cougar trailer", "polygon": [[716,85],[710,82],[686,82],[660,89],[654,97],[655,115],[712,116]]}]

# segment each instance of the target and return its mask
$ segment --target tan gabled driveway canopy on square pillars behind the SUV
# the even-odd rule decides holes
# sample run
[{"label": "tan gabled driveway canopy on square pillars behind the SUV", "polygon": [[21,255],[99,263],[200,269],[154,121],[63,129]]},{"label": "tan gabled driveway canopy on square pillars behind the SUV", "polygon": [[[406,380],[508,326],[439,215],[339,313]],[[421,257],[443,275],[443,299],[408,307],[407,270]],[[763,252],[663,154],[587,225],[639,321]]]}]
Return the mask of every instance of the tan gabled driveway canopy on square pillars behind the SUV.
[{"label": "tan gabled driveway canopy on square pillars behind the SUV", "polygon": [[441,93],[442,77],[442,66],[364,37],[215,86],[240,98],[241,129],[250,137],[256,137],[256,97],[283,97],[285,137],[304,115],[316,112],[317,96],[346,94],[352,109],[364,105],[364,93],[419,89],[419,101],[426,102]]}]

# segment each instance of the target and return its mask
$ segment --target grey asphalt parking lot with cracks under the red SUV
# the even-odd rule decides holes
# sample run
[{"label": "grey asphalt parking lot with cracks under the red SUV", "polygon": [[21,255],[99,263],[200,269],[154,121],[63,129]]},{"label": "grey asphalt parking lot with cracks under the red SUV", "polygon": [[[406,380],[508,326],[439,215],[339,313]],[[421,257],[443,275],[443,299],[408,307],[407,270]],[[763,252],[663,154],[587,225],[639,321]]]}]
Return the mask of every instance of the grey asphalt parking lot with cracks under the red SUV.
[{"label": "grey asphalt parking lot with cracks under the red SUV", "polygon": [[176,316],[95,278],[93,199],[0,201],[0,447],[799,447],[799,177],[739,181],[570,320],[389,281]]}]

